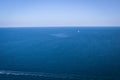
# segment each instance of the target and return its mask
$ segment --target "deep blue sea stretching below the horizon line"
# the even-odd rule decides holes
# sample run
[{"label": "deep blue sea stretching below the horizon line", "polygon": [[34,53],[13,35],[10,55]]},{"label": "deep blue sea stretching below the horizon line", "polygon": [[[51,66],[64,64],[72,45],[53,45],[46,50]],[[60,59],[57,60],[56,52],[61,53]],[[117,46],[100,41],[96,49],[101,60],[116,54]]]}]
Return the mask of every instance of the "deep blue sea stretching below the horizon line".
[{"label": "deep blue sea stretching below the horizon line", "polygon": [[0,80],[120,80],[120,27],[0,28]]}]

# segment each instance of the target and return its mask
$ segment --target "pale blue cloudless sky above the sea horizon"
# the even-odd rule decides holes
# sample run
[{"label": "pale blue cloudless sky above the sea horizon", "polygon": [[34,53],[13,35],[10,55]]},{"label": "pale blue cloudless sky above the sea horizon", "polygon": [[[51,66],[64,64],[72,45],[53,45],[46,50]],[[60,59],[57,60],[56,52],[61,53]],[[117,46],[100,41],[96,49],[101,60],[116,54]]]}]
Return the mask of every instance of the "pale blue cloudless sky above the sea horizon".
[{"label": "pale blue cloudless sky above the sea horizon", "polygon": [[120,0],[0,0],[0,27],[120,26]]}]

